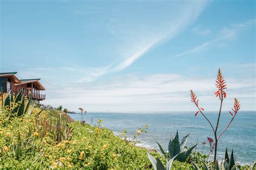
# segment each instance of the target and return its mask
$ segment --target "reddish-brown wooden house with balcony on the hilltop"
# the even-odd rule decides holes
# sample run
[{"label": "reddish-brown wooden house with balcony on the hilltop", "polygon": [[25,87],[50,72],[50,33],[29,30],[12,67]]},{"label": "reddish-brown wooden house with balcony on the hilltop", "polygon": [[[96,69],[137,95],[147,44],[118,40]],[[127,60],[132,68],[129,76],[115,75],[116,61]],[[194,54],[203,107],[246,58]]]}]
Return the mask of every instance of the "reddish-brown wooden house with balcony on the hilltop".
[{"label": "reddish-brown wooden house with balcony on the hilltop", "polygon": [[23,79],[19,80],[15,74],[17,72],[0,73],[0,89],[3,93],[19,93],[23,90],[23,95],[30,97],[32,100],[43,101],[45,100],[45,94],[41,94],[41,90],[45,90],[42,84],[39,82],[41,79]]}]

